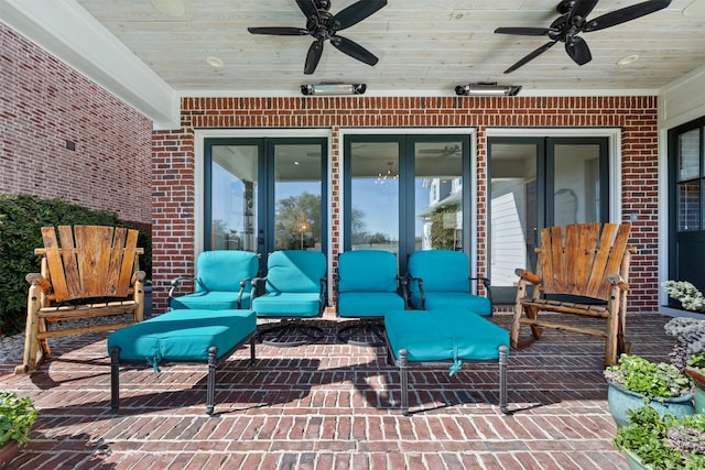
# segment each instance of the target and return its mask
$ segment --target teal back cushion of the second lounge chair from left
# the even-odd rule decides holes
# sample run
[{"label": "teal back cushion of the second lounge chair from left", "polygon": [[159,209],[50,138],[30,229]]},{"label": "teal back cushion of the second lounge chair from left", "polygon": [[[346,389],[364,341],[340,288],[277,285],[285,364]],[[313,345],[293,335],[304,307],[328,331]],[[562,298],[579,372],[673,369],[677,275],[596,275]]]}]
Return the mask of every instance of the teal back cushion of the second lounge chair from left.
[{"label": "teal back cushion of the second lounge chair from left", "polygon": [[267,292],[321,292],[326,256],[318,251],[283,250],[267,261]]}]

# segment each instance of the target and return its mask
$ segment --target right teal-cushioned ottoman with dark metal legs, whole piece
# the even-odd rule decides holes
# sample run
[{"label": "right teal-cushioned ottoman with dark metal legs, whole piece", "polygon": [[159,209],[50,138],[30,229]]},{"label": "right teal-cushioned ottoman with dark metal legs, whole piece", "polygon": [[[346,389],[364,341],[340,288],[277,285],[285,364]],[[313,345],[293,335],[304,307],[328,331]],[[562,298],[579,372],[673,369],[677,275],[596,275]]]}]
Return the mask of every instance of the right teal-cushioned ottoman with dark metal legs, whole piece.
[{"label": "right teal-cushioned ottoman with dark metal legs, whole piece", "polygon": [[384,315],[389,361],[401,375],[401,412],[409,415],[408,369],[449,364],[453,375],[463,362],[494,362],[499,365],[499,407],[507,408],[507,357],[509,332],[463,309],[399,310]]}]

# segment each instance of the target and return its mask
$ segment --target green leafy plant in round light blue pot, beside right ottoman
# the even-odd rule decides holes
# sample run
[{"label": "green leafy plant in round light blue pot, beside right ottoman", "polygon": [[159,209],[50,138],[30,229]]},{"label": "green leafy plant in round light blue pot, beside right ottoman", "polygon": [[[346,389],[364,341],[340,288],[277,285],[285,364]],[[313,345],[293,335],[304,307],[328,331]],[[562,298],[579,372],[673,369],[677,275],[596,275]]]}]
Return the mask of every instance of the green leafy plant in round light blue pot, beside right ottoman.
[{"label": "green leafy plant in round light blue pot, beside right ottoman", "polygon": [[608,385],[607,404],[617,426],[629,423],[628,409],[644,404],[661,414],[685,416],[695,413],[691,380],[671,363],[621,354],[618,363],[605,369],[604,374]]}]

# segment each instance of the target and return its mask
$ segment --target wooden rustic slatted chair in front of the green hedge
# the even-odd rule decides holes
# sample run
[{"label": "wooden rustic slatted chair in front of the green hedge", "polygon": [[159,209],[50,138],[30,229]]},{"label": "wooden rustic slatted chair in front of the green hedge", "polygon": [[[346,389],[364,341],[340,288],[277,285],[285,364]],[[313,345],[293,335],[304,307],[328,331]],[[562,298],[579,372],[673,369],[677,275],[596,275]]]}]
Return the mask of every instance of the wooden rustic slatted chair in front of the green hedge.
[{"label": "wooden rustic slatted chair in front of the green hedge", "polygon": [[[42,227],[41,273],[26,275],[24,358],[15,373],[33,372],[50,358],[47,339],[108,331],[144,319],[144,272],[139,270],[138,230],[98,226]],[[62,320],[132,314],[130,321],[50,329]]]}]

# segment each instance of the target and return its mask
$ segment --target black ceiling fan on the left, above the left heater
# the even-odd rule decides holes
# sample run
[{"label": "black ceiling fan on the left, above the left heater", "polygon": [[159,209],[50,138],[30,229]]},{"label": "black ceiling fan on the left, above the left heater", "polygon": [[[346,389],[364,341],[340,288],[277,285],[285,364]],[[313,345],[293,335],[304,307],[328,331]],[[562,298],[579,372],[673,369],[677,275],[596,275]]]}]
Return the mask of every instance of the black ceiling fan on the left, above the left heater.
[{"label": "black ceiling fan on the left, above the left heater", "polygon": [[306,28],[248,28],[252,34],[271,34],[276,36],[305,36],[311,35],[315,40],[308,47],[304,74],[311,75],[316,70],[323,44],[330,41],[330,44],[344,54],[349,55],[368,65],[378,62],[377,56],[347,37],[339,36],[338,31],[345,30],[365,20],[387,4],[387,0],[360,0],[343,9],[337,14],[330,14],[329,0],[296,0],[296,4],[306,17]]}]

